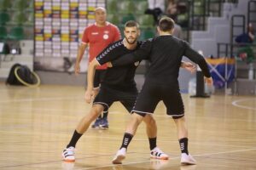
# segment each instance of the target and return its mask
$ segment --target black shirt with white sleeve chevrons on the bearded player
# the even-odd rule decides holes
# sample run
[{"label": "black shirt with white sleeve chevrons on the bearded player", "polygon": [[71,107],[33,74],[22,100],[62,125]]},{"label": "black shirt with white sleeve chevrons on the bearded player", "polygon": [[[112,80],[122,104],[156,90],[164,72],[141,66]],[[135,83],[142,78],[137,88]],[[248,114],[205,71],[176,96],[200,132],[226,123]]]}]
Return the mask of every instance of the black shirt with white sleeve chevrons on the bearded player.
[{"label": "black shirt with white sleeve chevrons on the bearded player", "polygon": [[[137,42],[137,48],[141,46],[142,42]],[[137,48],[129,50],[125,48],[123,40],[113,42],[108,45],[96,59],[100,65],[119,59],[122,55],[131,54]],[[134,89],[136,88],[136,82],[134,81],[135,71],[139,62],[132,62],[129,65],[120,65],[117,67],[108,68],[106,75],[104,76],[101,84],[109,88],[115,88],[119,90]]]}]

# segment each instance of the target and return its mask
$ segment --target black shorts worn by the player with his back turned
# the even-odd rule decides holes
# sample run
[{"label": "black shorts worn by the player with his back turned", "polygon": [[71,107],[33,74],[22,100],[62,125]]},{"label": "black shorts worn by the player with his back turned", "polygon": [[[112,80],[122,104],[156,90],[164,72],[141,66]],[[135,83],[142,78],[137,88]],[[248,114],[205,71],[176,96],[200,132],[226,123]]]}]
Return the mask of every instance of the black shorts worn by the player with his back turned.
[{"label": "black shorts worn by the player with his back turned", "polygon": [[184,115],[183,99],[179,88],[171,86],[153,85],[145,83],[142,91],[138,94],[132,112],[141,114],[154,113],[156,105],[163,100],[166,105],[166,114],[172,118]]}]

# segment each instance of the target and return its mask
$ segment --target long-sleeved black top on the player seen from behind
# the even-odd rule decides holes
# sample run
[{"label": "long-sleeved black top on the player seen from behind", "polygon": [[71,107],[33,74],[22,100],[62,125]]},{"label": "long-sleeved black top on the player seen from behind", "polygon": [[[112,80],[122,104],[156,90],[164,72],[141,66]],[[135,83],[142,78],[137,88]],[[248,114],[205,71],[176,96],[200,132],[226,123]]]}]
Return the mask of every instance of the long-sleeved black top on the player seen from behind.
[{"label": "long-sleeved black top on the player seen from behind", "polygon": [[188,42],[172,35],[148,39],[137,51],[114,60],[112,64],[113,66],[119,66],[148,59],[151,65],[145,82],[172,86],[178,85],[177,77],[183,56],[198,64],[206,77],[211,77],[203,56],[190,48]]}]

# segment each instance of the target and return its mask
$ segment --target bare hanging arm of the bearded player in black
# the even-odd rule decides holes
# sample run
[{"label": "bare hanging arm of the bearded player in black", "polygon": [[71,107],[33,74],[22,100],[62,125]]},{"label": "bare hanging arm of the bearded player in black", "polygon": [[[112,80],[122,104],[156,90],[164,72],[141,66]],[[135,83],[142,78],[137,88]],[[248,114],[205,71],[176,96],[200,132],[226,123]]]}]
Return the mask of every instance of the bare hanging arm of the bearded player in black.
[{"label": "bare hanging arm of the bearded player in black", "polygon": [[84,94],[84,99],[87,103],[90,104],[90,101],[94,98],[93,93],[93,82],[94,82],[94,75],[96,71],[96,66],[100,65],[99,62],[96,59],[93,59],[89,66],[87,71],[87,89]]}]

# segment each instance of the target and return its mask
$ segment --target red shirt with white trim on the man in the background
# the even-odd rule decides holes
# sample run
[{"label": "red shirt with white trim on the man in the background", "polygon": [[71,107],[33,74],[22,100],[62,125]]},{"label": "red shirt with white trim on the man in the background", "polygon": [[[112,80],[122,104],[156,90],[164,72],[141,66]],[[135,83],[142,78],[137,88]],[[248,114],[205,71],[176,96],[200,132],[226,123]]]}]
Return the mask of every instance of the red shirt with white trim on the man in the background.
[{"label": "red shirt with white trim on the man in the background", "polygon": [[[84,29],[82,43],[89,43],[89,61],[96,58],[104,48],[112,42],[116,42],[121,38],[119,28],[113,24],[106,22],[106,26],[96,26],[96,23]],[[107,69],[107,65],[100,65],[96,69]]]}]

